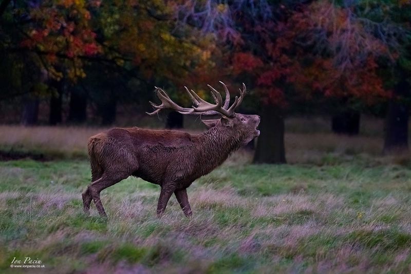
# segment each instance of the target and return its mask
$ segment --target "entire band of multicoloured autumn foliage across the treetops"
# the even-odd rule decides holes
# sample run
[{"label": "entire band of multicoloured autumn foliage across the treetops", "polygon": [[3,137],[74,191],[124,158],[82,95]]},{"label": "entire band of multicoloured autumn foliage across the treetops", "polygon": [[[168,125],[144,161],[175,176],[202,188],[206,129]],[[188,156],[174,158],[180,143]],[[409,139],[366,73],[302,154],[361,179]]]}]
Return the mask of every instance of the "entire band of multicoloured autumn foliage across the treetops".
[{"label": "entire band of multicoloured autumn foliage across the treetops", "polygon": [[85,78],[87,64],[102,62],[175,86],[245,79],[267,104],[287,105],[289,90],[372,103],[390,96],[381,60],[400,56],[377,33],[384,22],[362,16],[371,9],[362,2],[36,3],[9,7],[19,33],[10,45],[38,54],[38,67],[58,80]]}]

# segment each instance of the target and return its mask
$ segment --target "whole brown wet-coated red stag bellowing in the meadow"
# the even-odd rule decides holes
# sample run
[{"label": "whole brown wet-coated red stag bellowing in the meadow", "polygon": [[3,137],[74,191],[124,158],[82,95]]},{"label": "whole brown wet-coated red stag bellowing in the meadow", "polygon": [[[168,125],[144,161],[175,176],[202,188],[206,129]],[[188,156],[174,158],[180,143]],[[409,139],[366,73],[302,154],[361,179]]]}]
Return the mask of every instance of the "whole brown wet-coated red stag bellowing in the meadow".
[{"label": "whole brown wet-coated red stag bellowing in the meadow", "polygon": [[[197,178],[220,166],[234,151],[246,145],[260,132],[258,115],[235,113],[246,95],[242,84],[239,97],[230,106],[230,93],[226,84],[224,104],[219,92],[211,85],[215,103],[201,99],[192,89],[184,87],[193,105],[181,107],[173,102],[167,93],[155,87],[161,104],[150,102],[156,115],[162,109],[171,109],[183,115],[200,116],[209,128],[207,132],[189,134],[174,130],[149,130],[139,127],[114,128],[91,136],[88,140],[88,155],[91,166],[91,184],[82,193],[83,209],[89,214],[91,200],[102,217],[107,217],[100,199],[100,192],[128,176],[139,177],[160,186],[157,215],[164,213],[174,193],[185,216],[193,212],[187,196],[187,188]],[[202,120],[202,117],[216,116],[217,119]],[[221,117],[220,117],[221,116]]]}]

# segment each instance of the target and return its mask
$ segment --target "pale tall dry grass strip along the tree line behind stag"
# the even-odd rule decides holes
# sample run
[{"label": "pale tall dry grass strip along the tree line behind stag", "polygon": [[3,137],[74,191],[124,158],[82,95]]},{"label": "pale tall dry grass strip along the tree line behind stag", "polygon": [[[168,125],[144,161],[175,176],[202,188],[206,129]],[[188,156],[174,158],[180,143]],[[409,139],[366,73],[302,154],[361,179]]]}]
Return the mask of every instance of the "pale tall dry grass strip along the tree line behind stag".
[{"label": "pale tall dry grass strip along the tree line behind stag", "polygon": [[[204,131],[198,119],[185,119],[190,133]],[[107,130],[109,127],[84,126],[32,126],[0,125],[0,147],[6,150],[23,149],[40,152],[55,157],[86,157],[87,140],[90,136]],[[383,121],[362,117],[360,135],[343,136],[330,132],[327,117],[289,118],[286,120],[285,146],[290,163],[321,164],[353,156],[383,156]],[[252,153],[236,154],[250,162]],[[387,158],[387,157],[385,157]],[[409,155],[395,161],[408,160]]]}]

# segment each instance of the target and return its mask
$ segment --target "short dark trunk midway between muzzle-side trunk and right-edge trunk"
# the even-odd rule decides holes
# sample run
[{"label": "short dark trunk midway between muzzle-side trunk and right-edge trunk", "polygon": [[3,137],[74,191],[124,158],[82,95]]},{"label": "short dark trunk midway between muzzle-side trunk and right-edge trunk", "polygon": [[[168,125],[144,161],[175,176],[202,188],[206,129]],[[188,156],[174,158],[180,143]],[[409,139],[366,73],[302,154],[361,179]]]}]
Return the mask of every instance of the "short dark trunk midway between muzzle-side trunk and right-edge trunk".
[{"label": "short dark trunk midway between muzzle-side trunk and right-edge trunk", "polygon": [[332,116],[331,129],[337,134],[358,135],[360,133],[360,113],[344,111]]}]

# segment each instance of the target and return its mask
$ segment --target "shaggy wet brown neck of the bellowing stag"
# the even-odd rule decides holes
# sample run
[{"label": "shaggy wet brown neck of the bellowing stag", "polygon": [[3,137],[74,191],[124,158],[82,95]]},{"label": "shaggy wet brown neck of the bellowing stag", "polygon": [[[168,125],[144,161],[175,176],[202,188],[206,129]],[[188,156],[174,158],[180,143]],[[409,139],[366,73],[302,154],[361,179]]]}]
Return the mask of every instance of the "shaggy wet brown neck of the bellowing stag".
[{"label": "shaggy wet brown neck of the bellowing stag", "polygon": [[200,140],[202,144],[198,162],[200,163],[199,168],[203,170],[204,174],[221,165],[241,146],[241,140],[236,132],[223,130],[217,126],[201,134]]}]

